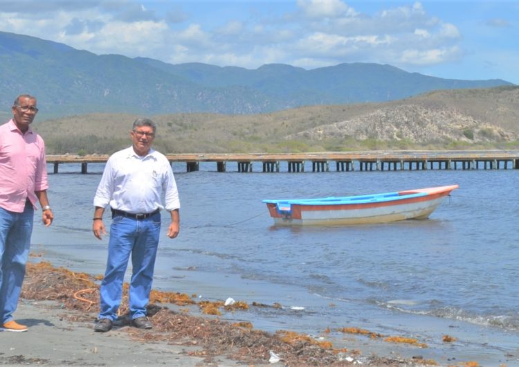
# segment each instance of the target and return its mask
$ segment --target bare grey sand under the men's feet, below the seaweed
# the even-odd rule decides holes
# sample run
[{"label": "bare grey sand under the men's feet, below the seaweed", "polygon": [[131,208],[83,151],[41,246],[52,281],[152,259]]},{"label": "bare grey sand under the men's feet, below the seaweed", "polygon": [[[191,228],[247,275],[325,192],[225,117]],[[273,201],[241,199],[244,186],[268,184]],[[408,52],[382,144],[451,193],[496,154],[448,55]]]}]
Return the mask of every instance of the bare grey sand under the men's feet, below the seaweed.
[{"label": "bare grey sand under the men's feet, below the seaweed", "polygon": [[[93,322],[71,322],[56,301],[19,304],[17,320],[28,332],[0,332],[0,364],[46,366],[204,366],[203,357],[189,356],[196,347],[140,343],[123,328],[100,334]],[[219,366],[229,366],[219,360]]]}]

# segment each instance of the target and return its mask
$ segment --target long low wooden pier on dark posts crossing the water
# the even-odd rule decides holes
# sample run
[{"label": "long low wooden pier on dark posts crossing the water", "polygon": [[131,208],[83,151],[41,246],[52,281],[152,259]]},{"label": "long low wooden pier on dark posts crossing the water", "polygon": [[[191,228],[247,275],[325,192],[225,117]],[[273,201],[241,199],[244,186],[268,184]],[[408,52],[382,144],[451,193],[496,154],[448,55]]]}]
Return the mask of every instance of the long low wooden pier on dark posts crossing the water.
[{"label": "long low wooden pier on dark posts crossing the water", "polygon": [[[519,150],[478,151],[376,151],[376,152],[317,152],[287,154],[166,154],[170,163],[185,163],[186,172],[199,170],[200,163],[215,163],[217,172],[226,172],[228,163],[237,164],[237,172],[394,171],[394,170],[519,170]],[[81,173],[88,172],[89,163],[106,163],[107,155],[73,156],[48,155],[47,163],[59,165],[77,163]],[[283,165],[284,167],[285,165]]]}]

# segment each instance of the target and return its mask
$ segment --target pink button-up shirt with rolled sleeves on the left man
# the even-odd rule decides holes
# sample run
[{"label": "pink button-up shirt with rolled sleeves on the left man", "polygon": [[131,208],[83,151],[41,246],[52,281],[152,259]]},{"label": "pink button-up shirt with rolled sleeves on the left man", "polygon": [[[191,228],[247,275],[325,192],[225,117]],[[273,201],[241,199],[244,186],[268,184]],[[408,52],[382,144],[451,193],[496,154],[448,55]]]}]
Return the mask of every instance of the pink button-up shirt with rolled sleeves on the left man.
[{"label": "pink button-up shirt with rolled sleeves on the left man", "polygon": [[48,188],[45,144],[32,129],[22,134],[11,119],[0,126],[0,207],[22,213],[26,199]]}]

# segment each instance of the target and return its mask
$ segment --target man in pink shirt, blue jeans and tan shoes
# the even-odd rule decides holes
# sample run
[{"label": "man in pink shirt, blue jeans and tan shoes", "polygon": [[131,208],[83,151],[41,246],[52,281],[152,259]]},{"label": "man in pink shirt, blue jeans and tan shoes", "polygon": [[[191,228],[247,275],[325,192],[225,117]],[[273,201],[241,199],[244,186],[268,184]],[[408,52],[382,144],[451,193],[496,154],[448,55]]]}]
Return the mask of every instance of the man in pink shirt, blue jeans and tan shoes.
[{"label": "man in pink shirt, blue jeans and tan shoes", "polygon": [[0,126],[0,331],[24,332],[13,318],[29,255],[36,202],[50,226],[53,212],[47,198],[43,139],[30,129],[38,111],[36,98],[18,96],[12,119]]}]

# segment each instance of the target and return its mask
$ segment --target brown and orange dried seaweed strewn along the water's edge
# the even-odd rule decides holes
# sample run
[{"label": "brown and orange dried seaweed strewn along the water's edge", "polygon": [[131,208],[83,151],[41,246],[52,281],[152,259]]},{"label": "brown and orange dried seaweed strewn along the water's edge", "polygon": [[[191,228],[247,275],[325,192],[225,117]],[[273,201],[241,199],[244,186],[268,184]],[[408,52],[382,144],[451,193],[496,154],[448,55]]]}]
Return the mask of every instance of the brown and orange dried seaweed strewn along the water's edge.
[{"label": "brown and orange dried seaweed strewn along the water's edge", "polygon": [[[100,278],[62,267],[55,268],[48,262],[29,263],[21,296],[34,300],[57,301],[64,309],[80,311],[67,315],[69,320],[91,321],[98,310]],[[120,307],[122,315],[128,312],[127,293],[128,285],[125,284]],[[197,346],[197,351],[186,353],[204,357],[206,362],[211,362],[218,356],[225,356],[242,364],[266,364],[270,351],[275,351],[280,356],[284,366],[351,366],[361,359],[360,352],[352,351],[347,355],[346,348],[334,349],[329,341],[316,341],[307,335],[284,330],[271,334],[254,330],[252,323],[248,322],[230,323],[213,316],[192,316],[185,311],[174,312],[164,306],[167,303],[179,306],[197,304],[192,297],[185,294],[154,290],[148,305],[148,316],[154,324],[153,330],[125,330],[133,339],[141,342],[166,341],[175,345]],[[248,310],[248,305],[242,302],[227,306],[221,301],[200,302],[198,305],[202,314],[204,308],[208,307],[218,312]],[[257,304],[257,307],[277,306]],[[345,328],[341,331],[352,330],[347,331]],[[356,331],[361,332],[360,329]],[[368,366],[424,366],[423,361],[415,364],[410,360],[376,356],[362,359],[362,363]]]}]

